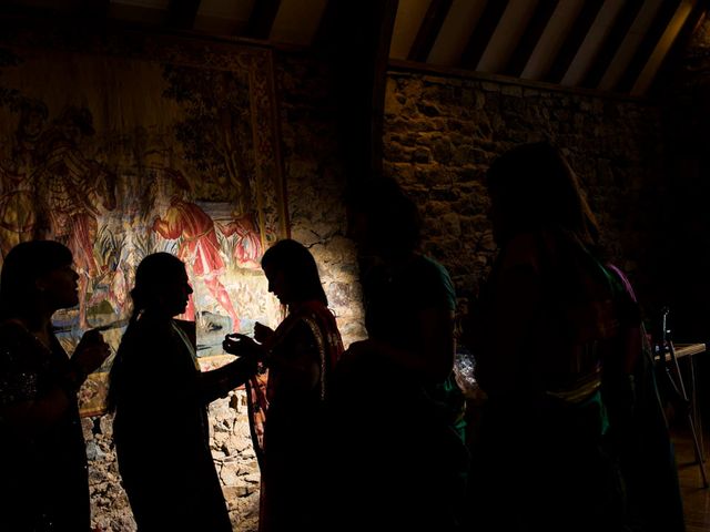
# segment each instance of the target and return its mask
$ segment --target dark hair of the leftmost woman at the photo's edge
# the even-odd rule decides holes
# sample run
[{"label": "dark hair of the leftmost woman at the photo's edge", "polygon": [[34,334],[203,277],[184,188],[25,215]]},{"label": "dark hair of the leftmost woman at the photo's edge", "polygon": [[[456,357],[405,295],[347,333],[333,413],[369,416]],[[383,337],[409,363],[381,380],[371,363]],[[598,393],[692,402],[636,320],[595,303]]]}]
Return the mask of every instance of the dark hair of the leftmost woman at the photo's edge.
[{"label": "dark hair of the leftmost woman at the photo's edge", "polygon": [[10,249],[0,274],[0,319],[31,314],[39,296],[37,279],[72,260],[71,250],[54,241],[22,242]]}]

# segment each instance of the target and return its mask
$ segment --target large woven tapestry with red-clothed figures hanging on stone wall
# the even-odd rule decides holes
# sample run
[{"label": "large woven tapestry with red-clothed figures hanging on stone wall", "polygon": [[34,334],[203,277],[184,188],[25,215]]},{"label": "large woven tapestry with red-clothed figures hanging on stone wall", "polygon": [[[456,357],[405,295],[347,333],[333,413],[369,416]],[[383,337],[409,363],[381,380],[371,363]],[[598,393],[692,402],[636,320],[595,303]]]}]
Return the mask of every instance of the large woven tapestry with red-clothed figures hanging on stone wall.
[{"label": "large woven tapestry with red-clothed figures hanging on stone wall", "polygon": [[[287,227],[270,52],[140,34],[8,42],[0,252],[32,238],[72,250],[80,304],[55,314],[67,350],[93,327],[115,350],[134,269],[153,252],[187,266],[181,318],[196,321],[205,367],[227,357],[225,334],[277,323],[258,267]],[[82,389],[85,416],[103,411],[110,364]]]}]

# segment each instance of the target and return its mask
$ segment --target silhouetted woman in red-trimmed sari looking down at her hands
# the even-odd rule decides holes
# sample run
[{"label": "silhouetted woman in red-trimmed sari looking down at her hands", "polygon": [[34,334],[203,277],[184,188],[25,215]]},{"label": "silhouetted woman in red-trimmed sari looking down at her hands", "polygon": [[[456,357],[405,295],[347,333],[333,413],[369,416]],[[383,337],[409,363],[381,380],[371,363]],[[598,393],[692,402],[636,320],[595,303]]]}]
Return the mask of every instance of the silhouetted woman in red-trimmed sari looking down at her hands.
[{"label": "silhouetted woman in red-trimmed sari looking down at her hands", "polygon": [[[338,530],[328,528],[326,520],[331,510],[326,500],[332,494],[326,484],[331,450],[326,401],[332,369],[343,351],[341,335],[306,247],[292,239],[278,241],[264,253],[262,268],[268,291],[288,309],[286,318],[276,330],[256,324],[257,341],[244,335],[229,335],[224,341],[227,352],[257,358],[268,369],[263,449],[257,449],[262,468],[258,530]],[[256,420],[254,409],[264,407],[252,405],[252,421]],[[254,430],[262,432],[260,427]]]}]

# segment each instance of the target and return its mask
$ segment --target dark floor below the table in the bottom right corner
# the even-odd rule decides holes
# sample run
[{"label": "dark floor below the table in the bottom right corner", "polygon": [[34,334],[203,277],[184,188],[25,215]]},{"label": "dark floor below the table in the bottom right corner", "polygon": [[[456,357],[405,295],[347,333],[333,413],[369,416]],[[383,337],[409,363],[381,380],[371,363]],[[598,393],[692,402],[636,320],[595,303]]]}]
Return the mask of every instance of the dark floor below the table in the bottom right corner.
[{"label": "dark floor below the table in the bottom right corner", "polygon": [[[710,480],[710,461],[707,460],[709,442],[710,438],[708,431],[706,431],[704,438],[699,443],[706,456],[706,472]],[[683,497],[686,532],[708,532],[710,531],[710,488],[702,487],[702,474],[696,462],[690,431],[674,429],[673,443],[676,446],[680,489]]]}]

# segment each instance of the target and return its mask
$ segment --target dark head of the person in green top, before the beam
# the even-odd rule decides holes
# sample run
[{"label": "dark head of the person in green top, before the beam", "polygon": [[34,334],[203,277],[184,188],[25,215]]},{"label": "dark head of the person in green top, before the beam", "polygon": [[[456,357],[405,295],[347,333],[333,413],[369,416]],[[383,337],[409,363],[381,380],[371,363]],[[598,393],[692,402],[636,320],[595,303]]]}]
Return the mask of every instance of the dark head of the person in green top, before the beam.
[{"label": "dark head of the person in green top, before the beam", "polygon": [[396,181],[371,177],[345,193],[348,234],[364,255],[397,257],[419,246],[422,221]]}]

